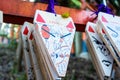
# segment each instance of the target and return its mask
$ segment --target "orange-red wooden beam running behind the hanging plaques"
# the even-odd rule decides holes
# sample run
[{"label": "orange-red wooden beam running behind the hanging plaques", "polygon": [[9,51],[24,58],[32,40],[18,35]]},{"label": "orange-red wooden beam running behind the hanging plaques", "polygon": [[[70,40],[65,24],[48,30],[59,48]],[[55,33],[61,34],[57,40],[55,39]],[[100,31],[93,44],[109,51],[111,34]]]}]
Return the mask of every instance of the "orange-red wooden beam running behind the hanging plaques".
[{"label": "orange-red wooden beam running behind the hanging plaques", "polygon": [[[4,13],[4,22],[23,24],[24,21],[33,22],[36,9],[46,10],[47,4],[32,3],[20,0],[1,0],[0,10]],[[55,6],[57,14],[69,13],[73,18],[77,31],[84,31],[86,18],[91,12],[61,6]]]}]

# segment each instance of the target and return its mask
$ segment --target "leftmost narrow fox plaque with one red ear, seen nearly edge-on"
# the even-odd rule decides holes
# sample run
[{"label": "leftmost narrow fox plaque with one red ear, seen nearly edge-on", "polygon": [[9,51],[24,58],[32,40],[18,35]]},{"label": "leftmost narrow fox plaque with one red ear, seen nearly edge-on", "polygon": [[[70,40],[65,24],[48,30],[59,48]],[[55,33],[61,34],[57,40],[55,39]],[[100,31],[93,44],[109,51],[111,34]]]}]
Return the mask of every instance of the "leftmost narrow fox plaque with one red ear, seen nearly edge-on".
[{"label": "leftmost narrow fox plaque with one red ear, seen nearly edge-on", "polygon": [[27,23],[24,23],[24,25],[21,28],[21,38],[22,38],[22,46],[23,46],[23,56],[25,60],[25,68],[26,68],[26,73],[27,73],[27,78],[28,80],[34,80],[34,75],[33,75],[33,66],[30,61],[30,53],[29,53],[29,46],[28,46],[28,40],[27,40],[27,35],[28,35],[28,28],[27,28]]}]

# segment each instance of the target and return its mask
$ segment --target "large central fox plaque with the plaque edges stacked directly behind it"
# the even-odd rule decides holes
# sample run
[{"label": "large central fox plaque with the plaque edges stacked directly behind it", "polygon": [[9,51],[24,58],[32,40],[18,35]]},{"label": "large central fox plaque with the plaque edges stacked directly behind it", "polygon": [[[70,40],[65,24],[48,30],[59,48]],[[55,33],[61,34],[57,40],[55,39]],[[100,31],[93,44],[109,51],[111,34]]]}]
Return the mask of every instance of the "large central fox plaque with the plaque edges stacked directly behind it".
[{"label": "large central fox plaque with the plaque edges stacked directly behind it", "polygon": [[42,59],[39,62],[41,61],[40,64],[43,66],[45,79],[55,80],[64,77],[75,33],[72,19],[37,10],[34,23],[33,36],[37,56]]}]

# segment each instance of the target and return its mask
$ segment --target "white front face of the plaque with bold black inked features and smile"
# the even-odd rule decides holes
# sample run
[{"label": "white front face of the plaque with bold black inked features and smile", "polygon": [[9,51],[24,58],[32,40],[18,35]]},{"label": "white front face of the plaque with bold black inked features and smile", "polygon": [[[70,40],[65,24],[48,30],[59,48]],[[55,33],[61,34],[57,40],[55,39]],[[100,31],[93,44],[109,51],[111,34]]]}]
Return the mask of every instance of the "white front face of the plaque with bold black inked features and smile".
[{"label": "white front face of the plaque with bold black inked features and smile", "polygon": [[[91,31],[92,30],[92,31]],[[95,24],[88,22],[86,26],[86,32],[89,37],[90,44],[94,49],[94,54],[98,59],[99,66],[101,67],[102,74],[104,76],[111,76],[113,58],[110,55],[109,50],[106,48],[103,41],[100,39]]]}]

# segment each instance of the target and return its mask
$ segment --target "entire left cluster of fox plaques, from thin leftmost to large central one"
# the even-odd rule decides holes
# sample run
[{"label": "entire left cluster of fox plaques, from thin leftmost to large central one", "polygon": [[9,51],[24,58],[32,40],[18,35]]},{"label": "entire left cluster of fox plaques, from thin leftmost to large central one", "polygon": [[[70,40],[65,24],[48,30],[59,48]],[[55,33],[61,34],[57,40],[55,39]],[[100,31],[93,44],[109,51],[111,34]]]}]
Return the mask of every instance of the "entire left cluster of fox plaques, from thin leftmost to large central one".
[{"label": "entire left cluster of fox plaques, from thin leftmost to large central one", "polygon": [[25,22],[21,34],[27,71],[32,66],[37,80],[65,77],[75,34],[72,18],[37,10],[34,24]]}]

